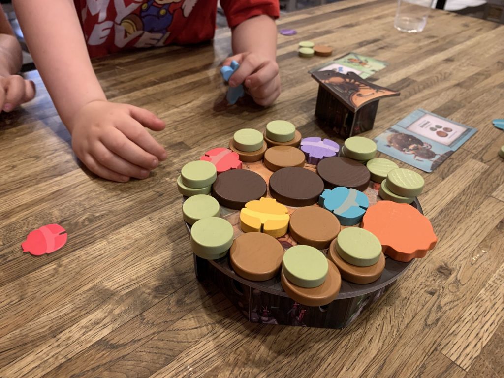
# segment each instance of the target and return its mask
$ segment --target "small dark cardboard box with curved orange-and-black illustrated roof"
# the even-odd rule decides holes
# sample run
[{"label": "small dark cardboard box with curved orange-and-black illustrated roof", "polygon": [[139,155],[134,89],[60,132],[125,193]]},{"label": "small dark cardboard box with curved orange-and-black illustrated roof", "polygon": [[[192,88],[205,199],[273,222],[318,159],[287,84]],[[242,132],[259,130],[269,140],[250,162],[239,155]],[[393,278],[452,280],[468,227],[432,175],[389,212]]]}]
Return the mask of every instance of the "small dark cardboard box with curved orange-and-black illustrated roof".
[{"label": "small dark cardboard box with curved orange-and-black illustrated roof", "polygon": [[316,117],[343,139],[371,130],[379,100],[400,94],[369,83],[353,72],[343,75],[318,71],[311,76],[319,83]]}]

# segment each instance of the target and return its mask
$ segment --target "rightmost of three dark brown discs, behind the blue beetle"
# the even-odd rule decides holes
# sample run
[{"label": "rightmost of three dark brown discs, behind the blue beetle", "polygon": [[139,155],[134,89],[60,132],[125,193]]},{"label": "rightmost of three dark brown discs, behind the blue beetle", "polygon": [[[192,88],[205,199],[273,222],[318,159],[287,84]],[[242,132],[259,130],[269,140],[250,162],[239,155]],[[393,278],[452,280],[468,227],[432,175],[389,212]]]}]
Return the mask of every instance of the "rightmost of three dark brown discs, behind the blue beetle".
[{"label": "rightmost of three dark brown discs, behind the blue beetle", "polygon": [[322,177],[328,189],[346,186],[363,192],[371,178],[365,165],[339,156],[322,159],[317,165],[317,173]]}]

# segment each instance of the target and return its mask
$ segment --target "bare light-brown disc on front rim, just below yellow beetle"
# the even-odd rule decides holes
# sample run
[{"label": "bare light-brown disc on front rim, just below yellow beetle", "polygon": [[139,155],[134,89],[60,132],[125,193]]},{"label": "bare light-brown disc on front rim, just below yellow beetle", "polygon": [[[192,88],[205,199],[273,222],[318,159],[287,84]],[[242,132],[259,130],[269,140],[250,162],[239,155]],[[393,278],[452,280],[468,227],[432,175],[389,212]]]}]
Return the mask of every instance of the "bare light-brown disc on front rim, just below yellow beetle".
[{"label": "bare light-brown disc on front rim, just below yellow beetle", "polygon": [[233,270],[250,281],[267,281],[282,267],[284,249],[273,236],[247,232],[234,239],[229,249]]}]

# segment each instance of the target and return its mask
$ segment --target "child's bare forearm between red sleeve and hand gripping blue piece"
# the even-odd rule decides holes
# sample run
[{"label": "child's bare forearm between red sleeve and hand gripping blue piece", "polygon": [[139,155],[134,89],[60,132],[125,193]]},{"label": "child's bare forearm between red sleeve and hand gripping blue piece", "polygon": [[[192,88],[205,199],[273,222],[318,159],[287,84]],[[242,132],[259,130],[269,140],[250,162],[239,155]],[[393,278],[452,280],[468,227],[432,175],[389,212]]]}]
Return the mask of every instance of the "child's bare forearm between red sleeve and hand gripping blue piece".
[{"label": "child's bare forearm between red sleeve and hand gripping blue piece", "polygon": [[233,52],[253,52],[276,59],[277,27],[269,16],[252,17],[233,29]]}]

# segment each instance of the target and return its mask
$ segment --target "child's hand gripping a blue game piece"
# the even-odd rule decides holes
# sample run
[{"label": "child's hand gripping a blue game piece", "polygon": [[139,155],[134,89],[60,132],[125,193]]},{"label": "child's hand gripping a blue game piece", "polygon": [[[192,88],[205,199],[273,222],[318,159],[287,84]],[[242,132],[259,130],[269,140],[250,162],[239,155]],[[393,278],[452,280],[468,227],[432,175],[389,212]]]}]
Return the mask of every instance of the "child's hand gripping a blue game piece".
[{"label": "child's hand gripping a blue game piece", "polygon": [[224,66],[236,60],[240,67],[229,78],[229,85],[243,84],[254,101],[263,106],[271,105],[280,95],[280,76],[275,59],[268,59],[251,52],[243,52],[227,58]]}]

